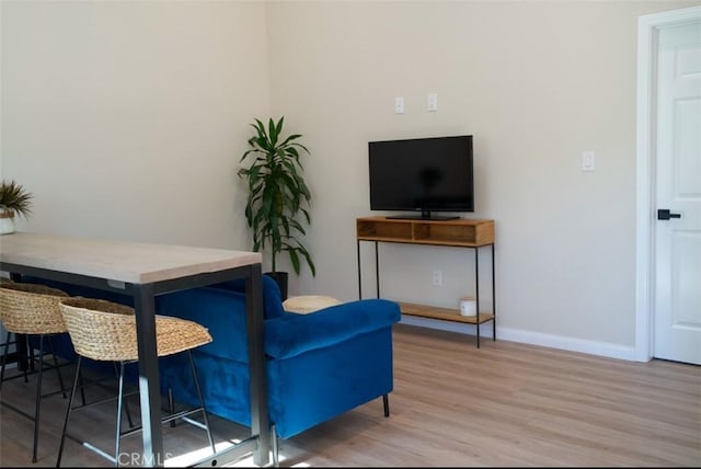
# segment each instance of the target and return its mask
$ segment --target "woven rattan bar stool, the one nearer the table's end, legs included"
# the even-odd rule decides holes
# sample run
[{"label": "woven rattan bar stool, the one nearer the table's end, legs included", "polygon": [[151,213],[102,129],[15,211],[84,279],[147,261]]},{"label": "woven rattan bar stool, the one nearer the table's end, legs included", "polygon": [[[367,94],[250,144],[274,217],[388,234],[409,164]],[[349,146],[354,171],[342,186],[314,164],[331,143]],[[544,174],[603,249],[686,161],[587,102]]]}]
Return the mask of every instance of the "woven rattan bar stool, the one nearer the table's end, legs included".
[{"label": "woven rattan bar stool, the one nearer the table's end, legs included", "polygon": [[[138,362],[136,316],[134,308],[107,300],[81,297],[64,299],[59,307],[66,328],[68,329],[68,333],[73,343],[73,348],[78,354],[78,367],[76,369],[76,377],[68,401],[66,419],[64,421],[56,467],[60,466],[64,445],[67,437],[80,443],[82,446],[88,447],[105,459],[111,460],[115,466],[119,466],[119,448],[122,438],[142,430],[141,425],[138,425],[125,432],[122,431],[122,409],[125,397],[125,365],[127,363]],[[214,438],[209,427],[209,419],[207,416],[207,410],[202,396],[197,370],[195,368],[195,362],[192,357],[193,348],[211,342],[211,335],[209,335],[207,329],[196,322],[160,314],[156,316],[156,335],[157,355],[159,357],[187,352],[195,388],[199,398],[198,407],[193,407],[180,412],[171,412],[163,416],[161,422],[168,423],[182,419],[205,430],[209,441],[209,446],[211,446],[212,453],[216,453]],[[68,434],[68,423],[71,412],[81,409],[73,408],[72,402],[76,388],[79,382],[83,357],[94,361],[119,363],[114,455],[110,455],[88,442]],[[204,424],[187,417],[187,415],[195,412],[202,412]]]}]

